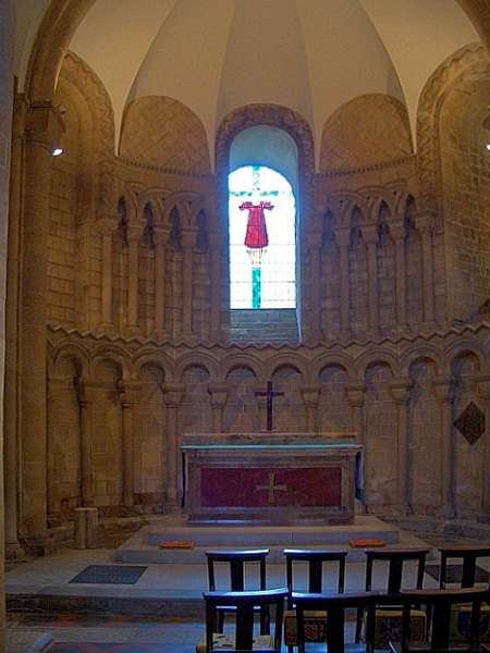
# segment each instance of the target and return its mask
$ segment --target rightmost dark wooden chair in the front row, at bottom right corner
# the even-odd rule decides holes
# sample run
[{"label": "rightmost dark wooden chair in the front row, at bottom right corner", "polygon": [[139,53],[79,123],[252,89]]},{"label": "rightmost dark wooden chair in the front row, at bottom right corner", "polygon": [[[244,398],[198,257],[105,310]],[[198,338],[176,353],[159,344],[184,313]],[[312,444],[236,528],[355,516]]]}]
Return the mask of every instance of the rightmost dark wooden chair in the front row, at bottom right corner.
[{"label": "rightmost dark wooden chair in the front row, at bottom right corner", "polygon": [[[419,653],[446,652],[446,651],[478,651],[480,638],[480,609],[481,603],[487,602],[490,592],[487,588],[465,588],[457,590],[402,590],[403,601],[402,637],[400,642],[390,642],[392,653]],[[468,642],[464,648],[451,649],[451,613],[461,604],[470,606]],[[430,624],[429,637],[424,642],[414,641],[412,633],[413,607],[426,606]]]}]

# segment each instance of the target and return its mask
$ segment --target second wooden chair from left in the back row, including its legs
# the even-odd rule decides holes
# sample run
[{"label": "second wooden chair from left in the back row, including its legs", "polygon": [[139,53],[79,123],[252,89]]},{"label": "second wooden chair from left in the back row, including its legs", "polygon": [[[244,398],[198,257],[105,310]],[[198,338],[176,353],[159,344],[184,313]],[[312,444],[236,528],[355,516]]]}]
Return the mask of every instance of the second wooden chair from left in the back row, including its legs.
[{"label": "second wooden chair from left in the back row, including its legs", "polygon": [[[296,645],[296,612],[292,600],[294,591],[294,568],[295,563],[306,563],[308,574],[308,592],[322,592],[323,566],[333,564],[336,567],[338,576],[338,592],[344,591],[345,586],[345,559],[347,557],[346,550],[331,549],[284,549],[284,557],[286,559],[286,583],[290,595],[287,599],[287,611],[284,615],[284,642],[287,649]],[[326,629],[326,613],[308,612],[306,619],[308,623],[308,632],[310,641],[323,641]]]}]

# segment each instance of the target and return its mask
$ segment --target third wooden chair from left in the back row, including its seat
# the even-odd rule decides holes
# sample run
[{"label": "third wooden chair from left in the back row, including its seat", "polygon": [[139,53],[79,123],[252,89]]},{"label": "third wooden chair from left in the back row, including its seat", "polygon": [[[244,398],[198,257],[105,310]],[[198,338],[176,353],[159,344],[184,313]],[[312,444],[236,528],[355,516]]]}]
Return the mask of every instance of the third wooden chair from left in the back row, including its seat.
[{"label": "third wooden chair from left in the back row, including its seat", "polygon": [[[388,575],[385,587],[382,588],[390,596],[396,595],[402,588],[403,570],[405,564],[415,560],[417,563],[417,578],[414,589],[420,590],[424,586],[424,571],[426,567],[427,554],[430,552],[428,547],[406,547],[387,546],[383,549],[365,549],[366,554],[366,592],[372,590],[372,571],[375,563],[388,564]],[[357,613],[356,623],[356,641],[360,641],[363,629],[363,611]],[[422,628],[426,625],[425,613],[418,612],[414,614]],[[379,609],[376,615],[376,646],[382,646],[387,643],[387,637],[394,628],[399,628],[402,619],[402,609],[396,605],[387,605],[385,608]],[[384,633],[384,634],[383,634]]]}]

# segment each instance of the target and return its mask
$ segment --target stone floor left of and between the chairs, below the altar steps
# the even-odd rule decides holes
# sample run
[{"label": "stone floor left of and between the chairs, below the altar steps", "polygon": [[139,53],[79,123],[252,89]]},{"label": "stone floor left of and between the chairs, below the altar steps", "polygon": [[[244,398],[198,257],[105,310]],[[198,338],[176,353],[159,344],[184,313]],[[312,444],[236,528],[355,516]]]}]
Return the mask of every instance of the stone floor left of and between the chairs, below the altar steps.
[{"label": "stone floor left of and between the chairs, below the altar steps", "polygon": [[[134,584],[70,583],[88,565],[120,564],[114,563],[113,555],[112,550],[66,550],[49,558],[16,564],[8,570],[8,652],[195,651],[204,633],[205,564],[148,564]],[[433,563],[437,559],[432,559]],[[490,566],[482,564],[481,567],[488,570]],[[268,587],[283,587],[284,572],[283,565],[268,565]],[[347,563],[347,590],[362,589],[364,578],[363,563]],[[414,579],[415,567],[412,566],[405,581],[412,584]],[[220,580],[224,578],[218,582]],[[382,587],[383,581],[384,569],[376,569],[375,589]],[[335,579],[330,579],[327,587],[333,589]],[[426,575],[425,584],[437,587],[437,581]],[[302,588],[306,588],[306,575],[299,574],[298,589]],[[27,599],[27,603],[20,597]],[[94,601],[96,603],[90,603]],[[91,614],[86,614],[87,611]],[[37,649],[33,649],[35,642]]]}]

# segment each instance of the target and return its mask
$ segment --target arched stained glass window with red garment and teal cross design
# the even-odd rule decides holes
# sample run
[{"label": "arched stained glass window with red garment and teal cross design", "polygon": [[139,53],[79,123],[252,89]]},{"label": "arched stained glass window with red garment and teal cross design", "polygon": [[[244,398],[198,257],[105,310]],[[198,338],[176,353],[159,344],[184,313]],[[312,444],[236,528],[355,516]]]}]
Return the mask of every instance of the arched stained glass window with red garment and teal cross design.
[{"label": "arched stained glass window with red garment and teal cross design", "polygon": [[[287,180],[266,167],[247,165],[229,176],[231,308],[296,306],[295,198]],[[268,245],[245,245],[249,211],[243,205],[272,205],[264,211]]]}]

